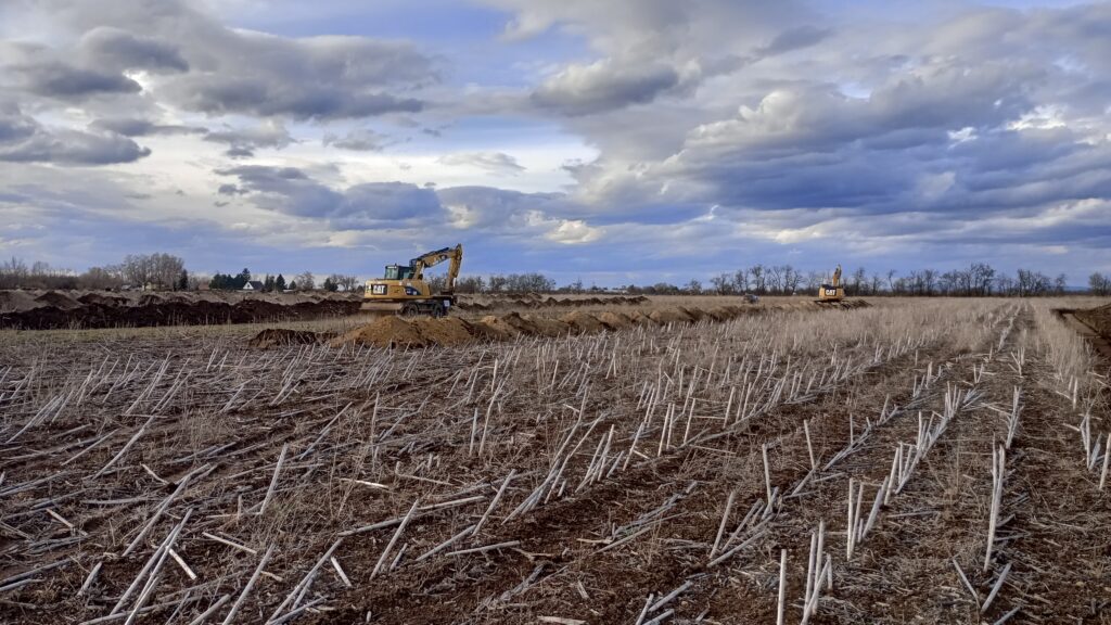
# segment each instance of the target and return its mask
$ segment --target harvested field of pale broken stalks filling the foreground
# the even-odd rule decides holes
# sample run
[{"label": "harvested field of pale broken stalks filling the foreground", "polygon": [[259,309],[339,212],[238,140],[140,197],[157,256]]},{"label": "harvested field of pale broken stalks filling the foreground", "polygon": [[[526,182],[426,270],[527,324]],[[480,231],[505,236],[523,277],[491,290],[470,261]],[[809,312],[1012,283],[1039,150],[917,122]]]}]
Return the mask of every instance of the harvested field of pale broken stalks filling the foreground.
[{"label": "harvested field of pale broken stalks filling the foreground", "polygon": [[0,622],[1111,623],[1062,304],[697,304],[0,334]]}]

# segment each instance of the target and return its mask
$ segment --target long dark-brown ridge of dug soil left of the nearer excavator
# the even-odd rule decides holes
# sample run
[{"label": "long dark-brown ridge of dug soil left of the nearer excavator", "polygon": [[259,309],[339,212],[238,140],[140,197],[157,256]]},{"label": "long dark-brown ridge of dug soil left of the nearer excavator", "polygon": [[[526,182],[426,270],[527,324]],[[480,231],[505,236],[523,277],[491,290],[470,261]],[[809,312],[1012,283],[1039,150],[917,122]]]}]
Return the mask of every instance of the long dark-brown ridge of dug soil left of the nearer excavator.
[{"label": "long dark-brown ridge of dug soil left of the nearer excavator", "polygon": [[123,328],[288,321],[353,315],[360,297],[236,291],[0,291],[0,328]]}]

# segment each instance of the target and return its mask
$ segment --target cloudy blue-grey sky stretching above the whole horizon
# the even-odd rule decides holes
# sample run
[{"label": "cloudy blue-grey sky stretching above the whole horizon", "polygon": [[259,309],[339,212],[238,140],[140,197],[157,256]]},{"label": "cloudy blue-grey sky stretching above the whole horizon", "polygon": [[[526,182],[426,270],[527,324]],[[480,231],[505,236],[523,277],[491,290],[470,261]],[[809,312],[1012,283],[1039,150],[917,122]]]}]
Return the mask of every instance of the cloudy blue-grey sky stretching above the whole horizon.
[{"label": "cloudy blue-grey sky stretching above the whole horizon", "polygon": [[0,254],[1081,285],[1109,59],[1111,3],[0,0]]}]

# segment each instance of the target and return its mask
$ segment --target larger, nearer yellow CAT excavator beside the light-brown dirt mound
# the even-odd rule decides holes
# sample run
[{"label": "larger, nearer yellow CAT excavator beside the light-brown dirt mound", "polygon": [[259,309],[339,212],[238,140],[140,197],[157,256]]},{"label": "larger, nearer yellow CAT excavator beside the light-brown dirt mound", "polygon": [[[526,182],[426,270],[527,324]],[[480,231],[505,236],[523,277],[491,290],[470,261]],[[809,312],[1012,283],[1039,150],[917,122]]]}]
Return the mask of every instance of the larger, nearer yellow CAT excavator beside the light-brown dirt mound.
[{"label": "larger, nearer yellow CAT excavator beside the light-brown dirt mound", "polygon": [[[444,290],[433,294],[424,269],[450,260]],[[403,316],[442,317],[456,305],[456,278],[463,262],[463,246],[446,247],[413,258],[409,265],[387,265],[386,276],[367,280],[361,310]]]}]

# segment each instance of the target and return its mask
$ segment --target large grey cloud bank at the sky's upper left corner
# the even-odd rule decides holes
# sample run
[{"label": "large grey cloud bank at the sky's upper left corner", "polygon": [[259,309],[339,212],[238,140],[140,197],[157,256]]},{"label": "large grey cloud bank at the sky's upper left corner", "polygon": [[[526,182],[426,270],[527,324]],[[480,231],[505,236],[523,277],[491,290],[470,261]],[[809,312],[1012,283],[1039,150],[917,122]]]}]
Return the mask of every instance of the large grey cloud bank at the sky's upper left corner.
[{"label": "large grey cloud bank at the sky's upper left corner", "polygon": [[[419,111],[423,102],[407,92],[436,78],[431,60],[409,43],[237,30],[178,0],[48,0],[34,9],[79,37],[0,52],[0,65],[21,77],[20,88],[40,96],[149,89],[209,115],[333,119]],[[136,69],[151,72],[149,83],[122,73]]]}]

